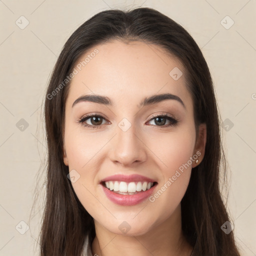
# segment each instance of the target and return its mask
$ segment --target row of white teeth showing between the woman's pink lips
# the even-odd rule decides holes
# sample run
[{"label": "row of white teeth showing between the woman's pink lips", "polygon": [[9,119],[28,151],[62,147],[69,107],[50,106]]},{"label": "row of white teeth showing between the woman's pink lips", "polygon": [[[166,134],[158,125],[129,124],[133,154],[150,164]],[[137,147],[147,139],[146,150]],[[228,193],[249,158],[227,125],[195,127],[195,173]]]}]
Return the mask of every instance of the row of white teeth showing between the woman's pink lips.
[{"label": "row of white teeth showing between the woman's pink lips", "polygon": [[106,187],[108,190],[115,192],[117,194],[132,195],[141,193],[155,186],[157,182],[147,182],[147,181],[136,181],[136,182],[124,182],[124,181],[102,181],[101,185]]}]

